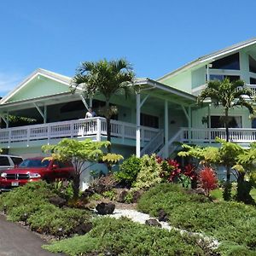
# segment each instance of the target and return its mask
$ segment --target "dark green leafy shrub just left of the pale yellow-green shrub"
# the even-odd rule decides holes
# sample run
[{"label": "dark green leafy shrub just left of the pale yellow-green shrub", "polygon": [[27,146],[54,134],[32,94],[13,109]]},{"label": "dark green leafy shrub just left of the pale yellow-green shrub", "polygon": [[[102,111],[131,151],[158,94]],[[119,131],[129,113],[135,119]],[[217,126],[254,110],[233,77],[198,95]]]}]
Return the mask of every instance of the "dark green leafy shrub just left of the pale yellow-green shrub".
[{"label": "dark green leafy shrub just left of the pale yellow-green shrub", "polygon": [[114,176],[119,181],[128,187],[136,181],[137,174],[141,170],[141,159],[137,158],[136,155],[131,155],[129,158],[119,166],[119,172],[115,172]]}]

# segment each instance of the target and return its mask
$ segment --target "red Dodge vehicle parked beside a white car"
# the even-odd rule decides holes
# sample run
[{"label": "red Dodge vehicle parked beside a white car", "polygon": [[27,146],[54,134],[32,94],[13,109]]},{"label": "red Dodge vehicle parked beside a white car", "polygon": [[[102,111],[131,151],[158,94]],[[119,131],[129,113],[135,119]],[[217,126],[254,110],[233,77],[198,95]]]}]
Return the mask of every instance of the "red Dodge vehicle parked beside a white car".
[{"label": "red Dodge vehicle parked beside a white car", "polygon": [[44,157],[29,158],[23,160],[14,169],[1,173],[0,189],[10,190],[25,185],[28,182],[56,179],[72,179],[74,177],[73,164],[69,161],[44,160]]}]

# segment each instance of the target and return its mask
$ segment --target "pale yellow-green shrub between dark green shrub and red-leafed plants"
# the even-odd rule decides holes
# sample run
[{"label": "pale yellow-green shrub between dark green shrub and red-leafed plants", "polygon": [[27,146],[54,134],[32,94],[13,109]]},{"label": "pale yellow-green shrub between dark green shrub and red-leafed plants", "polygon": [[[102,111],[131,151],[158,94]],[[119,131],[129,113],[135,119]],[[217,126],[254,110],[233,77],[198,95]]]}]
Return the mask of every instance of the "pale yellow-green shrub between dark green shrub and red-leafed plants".
[{"label": "pale yellow-green shrub between dark green shrub and red-leafed plants", "polygon": [[141,158],[141,170],[133,186],[137,189],[148,189],[155,183],[161,182],[161,167],[155,154],[144,154]]}]

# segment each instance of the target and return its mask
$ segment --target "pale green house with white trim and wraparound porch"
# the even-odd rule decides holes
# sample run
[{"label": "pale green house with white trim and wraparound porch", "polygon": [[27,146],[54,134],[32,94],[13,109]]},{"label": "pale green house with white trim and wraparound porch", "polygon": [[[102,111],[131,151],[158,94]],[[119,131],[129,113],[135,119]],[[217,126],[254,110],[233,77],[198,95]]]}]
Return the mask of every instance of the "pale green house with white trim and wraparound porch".
[{"label": "pale green house with white trim and wraparound porch", "polygon": [[[198,96],[212,79],[243,79],[256,89],[256,38],[205,55],[157,80],[137,79],[128,99],[115,95],[112,104],[119,113],[111,122],[113,152],[151,154],[168,157],[177,148],[176,142],[213,144],[215,137],[225,137],[219,123],[222,108],[211,102],[196,104]],[[0,101],[0,148],[8,154],[23,157],[42,155],[44,144],[54,144],[63,137],[83,140],[106,139],[106,120],[99,108],[104,98],[96,95],[85,99],[81,90],[70,91],[71,78],[38,69],[17,85]],[[92,106],[96,118],[84,119]],[[30,121],[24,125],[12,121],[19,116]],[[248,118],[246,109],[230,112],[231,141],[247,147],[256,138],[256,122]]]}]

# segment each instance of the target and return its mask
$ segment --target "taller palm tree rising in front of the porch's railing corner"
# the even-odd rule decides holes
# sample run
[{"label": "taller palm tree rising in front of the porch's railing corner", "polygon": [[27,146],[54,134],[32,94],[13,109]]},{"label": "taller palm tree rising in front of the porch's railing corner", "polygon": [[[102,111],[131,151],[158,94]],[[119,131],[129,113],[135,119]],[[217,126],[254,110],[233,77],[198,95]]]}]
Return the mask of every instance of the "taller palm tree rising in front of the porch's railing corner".
[{"label": "taller palm tree rising in front of the porch's railing corner", "polygon": [[[125,93],[125,97],[130,94],[131,85],[135,74],[131,65],[125,59],[116,61],[85,61],[77,69],[71,82],[71,90],[76,90],[79,86],[84,91],[84,96],[92,97],[101,94],[105,97],[106,105],[102,113],[107,122],[107,139],[111,141],[110,119],[117,108],[110,106],[110,99],[118,93]],[[110,146],[108,152],[111,151]]]}]

